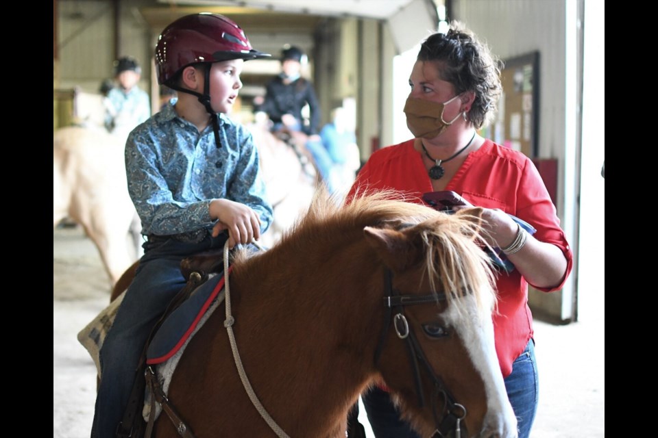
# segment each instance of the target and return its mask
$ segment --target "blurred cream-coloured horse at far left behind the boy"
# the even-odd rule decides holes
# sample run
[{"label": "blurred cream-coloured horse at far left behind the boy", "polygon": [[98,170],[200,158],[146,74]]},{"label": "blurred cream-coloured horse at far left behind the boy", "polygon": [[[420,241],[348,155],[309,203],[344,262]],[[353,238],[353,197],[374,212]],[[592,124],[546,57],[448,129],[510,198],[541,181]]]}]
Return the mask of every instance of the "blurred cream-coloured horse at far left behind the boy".
[{"label": "blurred cream-coloured horse at far left behind the boy", "polygon": [[53,131],[53,229],[64,218],[80,224],[95,244],[112,285],[141,253],[123,144],[100,127]]}]

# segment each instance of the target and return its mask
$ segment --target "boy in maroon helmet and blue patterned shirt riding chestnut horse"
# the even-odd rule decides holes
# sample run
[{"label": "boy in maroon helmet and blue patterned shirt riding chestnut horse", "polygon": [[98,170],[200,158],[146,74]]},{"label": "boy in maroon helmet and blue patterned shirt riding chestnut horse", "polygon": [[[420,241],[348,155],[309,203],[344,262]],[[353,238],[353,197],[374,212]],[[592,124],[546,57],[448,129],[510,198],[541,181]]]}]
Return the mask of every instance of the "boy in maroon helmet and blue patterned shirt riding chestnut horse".
[{"label": "boy in maroon helmet and blue patterned shirt riding chestnut horse", "polygon": [[184,16],[158,38],[158,83],[179,97],[126,143],[128,191],[147,242],[101,348],[92,437],[130,435],[121,420],[135,370],[151,327],[185,285],[180,261],[226,240],[258,240],[271,223],[252,136],[226,116],[243,62],[267,56],[219,14]]}]

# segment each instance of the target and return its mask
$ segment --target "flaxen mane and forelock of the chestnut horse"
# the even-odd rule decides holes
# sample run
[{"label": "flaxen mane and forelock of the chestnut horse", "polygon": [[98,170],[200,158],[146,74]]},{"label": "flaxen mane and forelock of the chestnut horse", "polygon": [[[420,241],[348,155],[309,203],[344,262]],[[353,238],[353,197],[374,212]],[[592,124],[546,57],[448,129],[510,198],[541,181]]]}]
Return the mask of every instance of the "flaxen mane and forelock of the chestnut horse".
[{"label": "flaxen mane and forelock of the chestnut horse", "polygon": [[[262,255],[277,251],[278,257],[287,259],[281,254],[308,250],[330,255],[332,248],[363,238],[365,227],[410,229],[425,246],[424,272],[432,290],[443,290],[448,302],[474,293],[478,309],[491,311],[496,303],[495,277],[493,263],[483,251],[489,245],[483,238],[482,209],[446,214],[409,201],[402,192],[380,190],[357,193],[341,205],[337,196],[319,187],[306,214]],[[246,268],[253,258],[245,250],[236,252],[235,268]]]}]

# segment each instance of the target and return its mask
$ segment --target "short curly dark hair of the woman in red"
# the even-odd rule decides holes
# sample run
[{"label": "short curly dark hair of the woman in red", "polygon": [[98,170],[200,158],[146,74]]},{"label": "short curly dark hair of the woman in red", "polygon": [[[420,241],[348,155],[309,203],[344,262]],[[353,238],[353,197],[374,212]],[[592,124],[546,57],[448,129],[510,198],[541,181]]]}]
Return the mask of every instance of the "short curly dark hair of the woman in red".
[{"label": "short curly dark hair of the woman in red", "polygon": [[452,83],[457,94],[475,94],[467,116],[476,129],[491,123],[502,93],[502,62],[472,31],[452,21],[446,34],[432,34],[424,40],[416,59],[439,64],[439,77]]}]

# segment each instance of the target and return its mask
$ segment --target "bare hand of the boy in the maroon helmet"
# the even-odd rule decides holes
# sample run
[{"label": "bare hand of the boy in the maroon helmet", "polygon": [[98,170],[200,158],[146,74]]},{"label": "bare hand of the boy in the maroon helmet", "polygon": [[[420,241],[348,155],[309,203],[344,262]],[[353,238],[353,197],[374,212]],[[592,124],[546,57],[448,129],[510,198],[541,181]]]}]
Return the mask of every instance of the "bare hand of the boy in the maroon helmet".
[{"label": "bare hand of the boy in the maroon helmet", "polygon": [[212,237],[228,230],[229,248],[260,239],[260,218],[247,205],[228,199],[213,199],[208,213],[212,219],[217,219],[217,224],[212,227]]}]

